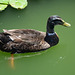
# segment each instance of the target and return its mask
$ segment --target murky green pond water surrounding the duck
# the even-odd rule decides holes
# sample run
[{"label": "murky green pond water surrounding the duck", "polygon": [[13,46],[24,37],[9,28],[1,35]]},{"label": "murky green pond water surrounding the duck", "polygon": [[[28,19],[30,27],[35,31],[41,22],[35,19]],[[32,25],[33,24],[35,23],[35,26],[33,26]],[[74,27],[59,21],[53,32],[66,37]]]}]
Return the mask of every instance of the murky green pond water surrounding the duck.
[{"label": "murky green pond water surrounding the duck", "polygon": [[2,29],[36,29],[46,31],[47,19],[59,15],[72,26],[56,26],[58,45],[37,53],[14,54],[0,51],[0,75],[75,75],[75,0],[28,0],[24,10],[8,6],[0,12]]}]

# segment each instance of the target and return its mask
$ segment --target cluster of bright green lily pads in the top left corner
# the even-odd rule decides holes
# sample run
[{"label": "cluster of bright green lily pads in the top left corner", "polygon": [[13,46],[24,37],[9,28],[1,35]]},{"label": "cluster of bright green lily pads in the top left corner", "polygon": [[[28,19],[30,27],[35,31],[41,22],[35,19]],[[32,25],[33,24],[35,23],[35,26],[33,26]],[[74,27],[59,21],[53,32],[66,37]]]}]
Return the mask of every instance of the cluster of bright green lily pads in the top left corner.
[{"label": "cluster of bright green lily pads in the top left corner", "polygon": [[27,0],[0,0],[0,11],[4,10],[8,5],[16,9],[24,9],[27,4]]}]

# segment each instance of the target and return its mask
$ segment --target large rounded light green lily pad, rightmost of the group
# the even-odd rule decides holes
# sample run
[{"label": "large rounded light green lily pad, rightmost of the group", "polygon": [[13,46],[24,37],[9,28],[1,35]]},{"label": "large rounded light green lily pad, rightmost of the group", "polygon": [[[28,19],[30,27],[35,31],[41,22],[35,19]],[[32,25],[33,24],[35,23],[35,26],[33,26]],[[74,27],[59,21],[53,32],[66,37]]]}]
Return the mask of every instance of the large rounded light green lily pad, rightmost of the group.
[{"label": "large rounded light green lily pad, rightmost of the group", "polygon": [[16,9],[24,9],[28,2],[27,0],[9,0],[9,4]]}]

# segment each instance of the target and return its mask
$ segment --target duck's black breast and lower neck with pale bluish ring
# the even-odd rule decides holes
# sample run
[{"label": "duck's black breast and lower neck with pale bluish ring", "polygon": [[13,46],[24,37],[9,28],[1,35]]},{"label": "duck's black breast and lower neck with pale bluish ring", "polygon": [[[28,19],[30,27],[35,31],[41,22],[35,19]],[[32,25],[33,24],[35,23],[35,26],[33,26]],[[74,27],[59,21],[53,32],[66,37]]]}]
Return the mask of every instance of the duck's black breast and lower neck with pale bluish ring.
[{"label": "duck's black breast and lower neck with pale bluish ring", "polygon": [[54,32],[54,26],[49,26],[49,24],[47,25],[45,41],[50,44],[50,46],[54,46],[59,42],[59,38]]}]

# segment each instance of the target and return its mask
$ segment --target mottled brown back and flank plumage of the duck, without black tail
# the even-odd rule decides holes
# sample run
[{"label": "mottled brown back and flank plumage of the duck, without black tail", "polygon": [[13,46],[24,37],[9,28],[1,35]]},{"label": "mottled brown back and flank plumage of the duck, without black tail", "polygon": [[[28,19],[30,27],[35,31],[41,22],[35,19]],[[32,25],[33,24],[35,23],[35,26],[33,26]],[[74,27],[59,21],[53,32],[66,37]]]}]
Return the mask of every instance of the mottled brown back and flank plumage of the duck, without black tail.
[{"label": "mottled brown back and flank plumage of the duck, without black tail", "polygon": [[33,30],[33,29],[13,29],[13,30],[3,30],[4,33],[9,34],[12,42],[5,45],[7,48],[10,45],[17,49],[17,52],[36,52],[40,50],[45,50],[50,47],[50,45],[44,40],[46,33]]}]

